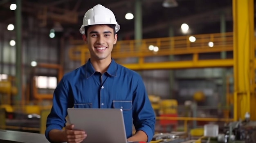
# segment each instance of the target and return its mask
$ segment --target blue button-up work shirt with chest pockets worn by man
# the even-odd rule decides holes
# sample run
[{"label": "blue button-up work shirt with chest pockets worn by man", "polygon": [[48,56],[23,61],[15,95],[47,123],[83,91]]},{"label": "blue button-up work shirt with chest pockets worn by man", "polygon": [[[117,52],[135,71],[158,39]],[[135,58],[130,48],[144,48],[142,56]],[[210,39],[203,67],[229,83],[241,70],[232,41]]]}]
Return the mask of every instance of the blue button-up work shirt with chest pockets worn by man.
[{"label": "blue button-up work shirt with chest pockets worn by man", "polygon": [[[155,114],[148,99],[141,76],[114,59],[108,70],[96,72],[90,62],[66,73],[58,83],[53,104],[47,117],[45,136],[49,131],[62,130],[67,108],[121,108],[126,136],[132,136],[132,122],[136,131],[142,130],[151,141],[155,132]],[[86,132],[86,131],[85,131]]]}]

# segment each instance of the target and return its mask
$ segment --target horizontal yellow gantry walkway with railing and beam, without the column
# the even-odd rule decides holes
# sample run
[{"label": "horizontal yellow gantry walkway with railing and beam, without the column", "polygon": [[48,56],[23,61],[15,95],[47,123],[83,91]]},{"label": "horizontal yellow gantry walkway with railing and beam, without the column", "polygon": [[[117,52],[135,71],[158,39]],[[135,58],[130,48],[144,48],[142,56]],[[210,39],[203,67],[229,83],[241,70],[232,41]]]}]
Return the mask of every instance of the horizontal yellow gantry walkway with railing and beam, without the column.
[{"label": "horizontal yellow gantry walkway with railing and beam, without the column", "polygon": [[[223,36],[225,35],[225,36]],[[189,36],[164,37],[144,40],[118,41],[112,51],[112,57],[123,66],[132,70],[154,70],[154,69],[178,69],[178,68],[204,68],[204,67],[227,67],[233,66],[233,59],[199,59],[200,53],[215,53],[221,51],[233,51],[233,33],[216,33],[193,35],[195,42],[189,41]],[[209,46],[213,42],[213,47]],[[80,60],[85,64],[90,53],[85,44],[81,41],[72,41],[78,44],[70,48],[69,57],[72,60]],[[139,45],[139,46],[137,46]],[[150,51],[148,46],[153,45],[159,48],[158,52]],[[189,55],[191,60],[186,61],[165,61],[165,62],[145,62],[147,57],[160,57],[169,55]],[[126,59],[136,58],[137,63],[128,63]]]}]

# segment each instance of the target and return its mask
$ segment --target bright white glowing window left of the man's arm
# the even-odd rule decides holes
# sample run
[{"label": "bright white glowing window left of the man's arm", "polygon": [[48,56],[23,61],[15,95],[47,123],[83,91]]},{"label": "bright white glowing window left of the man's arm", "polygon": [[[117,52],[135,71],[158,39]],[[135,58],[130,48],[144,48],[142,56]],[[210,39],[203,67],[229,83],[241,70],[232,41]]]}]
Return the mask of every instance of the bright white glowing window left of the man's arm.
[{"label": "bright white glowing window left of the man's arm", "polygon": [[57,77],[36,76],[36,87],[44,89],[55,89]]}]

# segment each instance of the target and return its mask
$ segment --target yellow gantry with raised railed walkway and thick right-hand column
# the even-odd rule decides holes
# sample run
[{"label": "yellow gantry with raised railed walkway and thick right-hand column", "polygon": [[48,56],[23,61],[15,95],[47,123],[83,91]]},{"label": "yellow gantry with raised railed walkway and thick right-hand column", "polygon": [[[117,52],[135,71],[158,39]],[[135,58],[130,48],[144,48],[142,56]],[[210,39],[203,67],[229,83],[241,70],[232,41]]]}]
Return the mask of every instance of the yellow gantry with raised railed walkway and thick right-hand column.
[{"label": "yellow gantry with raised railed walkway and thick right-hand column", "polygon": [[[231,33],[212,33],[189,36],[164,37],[143,40],[118,41],[112,51],[112,57],[123,66],[132,70],[181,69],[181,68],[234,68],[234,121],[244,119],[245,113],[256,120],[255,94],[255,38],[254,38],[254,0],[233,0],[234,31]],[[209,42],[212,42],[209,45]],[[90,57],[83,41],[71,41],[69,51],[71,60],[85,64]],[[159,51],[149,50],[157,46]],[[220,53],[233,51],[233,58],[200,59],[202,53]],[[190,60],[145,62],[148,57],[170,55],[192,55]],[[129,63],[128,59],[136,59]],[[167,58],[168,59],[168,58]]]}]

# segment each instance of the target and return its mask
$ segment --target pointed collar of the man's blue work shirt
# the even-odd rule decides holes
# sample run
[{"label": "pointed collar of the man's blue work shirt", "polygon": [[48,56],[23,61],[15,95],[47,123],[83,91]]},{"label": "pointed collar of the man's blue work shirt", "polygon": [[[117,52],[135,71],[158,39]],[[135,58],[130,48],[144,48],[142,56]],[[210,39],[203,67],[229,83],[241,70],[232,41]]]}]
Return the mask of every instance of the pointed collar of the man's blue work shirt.
[{"label": "pointed collar of the man's blue work shirt", "polygon": [[[94,70],[92,63],[91,63],[91,59],[89,59],[86,62],[86,66],[85,66],[85,75],[86,78],[91,77],[96,71]],[[106,71],[106,73],[108,73],[108,75],[116,77],[117,76],[117,64],[115,62],[114,59],[111,58],[111,63],[108,67],[108,70]]]}]

